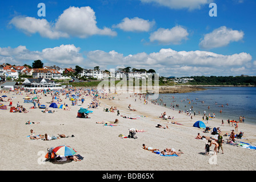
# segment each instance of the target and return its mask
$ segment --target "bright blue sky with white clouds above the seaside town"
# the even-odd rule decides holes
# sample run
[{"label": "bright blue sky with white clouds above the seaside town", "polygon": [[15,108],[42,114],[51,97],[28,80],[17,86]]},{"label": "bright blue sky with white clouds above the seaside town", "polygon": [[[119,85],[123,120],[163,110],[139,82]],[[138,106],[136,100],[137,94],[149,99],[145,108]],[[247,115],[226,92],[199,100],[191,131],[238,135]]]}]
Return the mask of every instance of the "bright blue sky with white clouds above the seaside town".
[{"label": "bright blue sky with white clouds above the seaside town", "polygon": [[0,64],[255,76],[255,8],[251,0],[1,1]]}]

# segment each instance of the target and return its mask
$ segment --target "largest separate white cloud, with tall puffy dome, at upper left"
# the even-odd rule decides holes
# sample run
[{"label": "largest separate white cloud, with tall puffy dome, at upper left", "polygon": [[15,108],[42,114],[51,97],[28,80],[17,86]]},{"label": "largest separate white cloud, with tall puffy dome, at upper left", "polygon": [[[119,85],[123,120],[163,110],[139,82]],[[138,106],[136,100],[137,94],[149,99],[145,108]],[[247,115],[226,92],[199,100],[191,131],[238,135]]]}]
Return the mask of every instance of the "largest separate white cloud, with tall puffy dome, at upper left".
[{"label": "largest separate white cloud, with tall puffy dome, at upper left", "polygon": [[117,33],[110,28],[97,27],[96,17],[91,7],[69,7],[63,11],[54,23],[49,23],[46,19],[36,19],[33,17],[16,16],[10,20],[19,30],[26,34],[39,33],[41,36],[58,39],[69,36],[87,38],[92,35],[116,36]]}]

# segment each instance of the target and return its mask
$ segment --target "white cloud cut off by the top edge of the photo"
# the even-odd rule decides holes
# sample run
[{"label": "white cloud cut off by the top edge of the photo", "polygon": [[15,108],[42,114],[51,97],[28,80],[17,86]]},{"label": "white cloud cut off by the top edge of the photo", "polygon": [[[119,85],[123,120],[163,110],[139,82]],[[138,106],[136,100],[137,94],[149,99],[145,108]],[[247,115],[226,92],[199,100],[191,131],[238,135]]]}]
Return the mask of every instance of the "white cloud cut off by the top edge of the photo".
[{"label": "white cloud cut off by the top edge of the photo", "polygon": [[157,3],[161,6],[169,7],[170,9],[200,9],[201,6],[206,5],[212,0],[141,0],[145,3]]}]

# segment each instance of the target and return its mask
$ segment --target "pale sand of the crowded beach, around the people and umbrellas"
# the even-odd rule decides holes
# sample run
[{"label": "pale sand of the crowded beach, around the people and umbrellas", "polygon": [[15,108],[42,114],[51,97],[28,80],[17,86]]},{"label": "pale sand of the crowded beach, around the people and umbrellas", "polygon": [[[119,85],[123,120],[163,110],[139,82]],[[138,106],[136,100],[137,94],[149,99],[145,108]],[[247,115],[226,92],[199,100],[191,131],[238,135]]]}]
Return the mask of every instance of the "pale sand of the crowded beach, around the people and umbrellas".
[{"label": "pale sand of the crowded beach, around the people and umbrellas", "polygon": [[[195,115],[193,119],[185,113],[178,113],[178,110],[171,110],[165,107],[144,103],[143,98],[134,94],[107,94],[107,98],[100,99],[97,108],[90,108],[93,113],[90,118],[77,118],[78,110],[81,107],[87,108],[87,104],[92,101],[92,96],[85,96],[82,104],[71,105],[69,98],[60,95],[61,104],[69,105],[71,110],[53,109],[54,113],[43,113],[44,109],[30,109],[33,104],[24,103],[26,96],[24,91],[21,93],[3,93],[7,97],[3,98],[7,110],[0,110],[0,156],[2,158],[0,170],[26,170],[26,171],[54,171],[54,170],[85,170],[85,171],[247,171],[255,170],[255,150],[223,144],[224,154],[220,152],[213,156],[214,147],[210,147],[210,156],[205,155],[205,143],[207,140],[195,139],[197,134],[212,137],[210,133],[203,133],[203,129],[193,127],[193,124],[202,119],[202,115]],[[1,95],[1,96],[2,96]],[[51,94],[47,96],[42,93],[31,94],[30,97],[39,96],[41,104],[49,106]],[[110,99],[114,97],[114,99]],[[19,102],[25,107],[28,113],[10,113],[7,98],[12,98],[13,106]],[[135,101],[136,98],[136,101]],[[57,102],[57,100],[55,100]],[[131,105],[132,111],[128,109]],[[103,111],[103,108],[117,107],[121,115],[136,119],[123,118],[117,115],[117,111]],[[159,118],[166,111],[167,116],[174,119],[164,120]],[[105,126],[96,122],[114,122],[118,119],[118,126]],[[27,121],[39,122],[37,124],[26,125]],[[178,122],[182,125],[170,122]],[[168,129],[157,128],[157,123],[168,126]],[[221,126],[221,120],[210,119],[206,126],[221,127],[222,135],[231,133],[234,127]],[[145,130],[146,132],[136,133],[137,139],[121,138],[120,134],[129,135],[129,129]],[[65,134],[74,137],[61,138],[55,140],[31,140],[27,136],[30,130],[35,134],[48,135]],[[238,141],[256,145],[256,126],[247,123],[239,123],[239,131],[243,131],[242,139]],[[226,139],[229,137],[223,137]],[[79,162],[51,163],[44,162],[47,148],[67,145],[75,149],[77,154],[83,156]],[[146,146],[164,150],[174,148],[175,151],[181,150],[184,154],[180,156],[161,156],[153,152],[143,150],[142,144]],[[214,158],[213,158],[214,157]],[[209,162],[214,159],[214,164]],[[213,161],[213,160],[211,160]],[[239,169],[238,169],[239,167]]]}]

